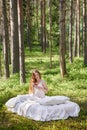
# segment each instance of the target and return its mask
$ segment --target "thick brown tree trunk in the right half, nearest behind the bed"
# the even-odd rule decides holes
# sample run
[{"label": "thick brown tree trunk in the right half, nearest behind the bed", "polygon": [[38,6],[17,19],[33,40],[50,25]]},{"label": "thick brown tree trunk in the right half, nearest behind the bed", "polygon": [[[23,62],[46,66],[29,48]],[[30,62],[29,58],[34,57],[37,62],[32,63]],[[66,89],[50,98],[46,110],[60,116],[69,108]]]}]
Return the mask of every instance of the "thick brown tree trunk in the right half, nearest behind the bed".
[{"label": "thick brown tree trunk in the right half, nearest behind the bed", "polygon": [[66,74],[65,62],[65,0],[60,0],[60,71],[61,76]]}]

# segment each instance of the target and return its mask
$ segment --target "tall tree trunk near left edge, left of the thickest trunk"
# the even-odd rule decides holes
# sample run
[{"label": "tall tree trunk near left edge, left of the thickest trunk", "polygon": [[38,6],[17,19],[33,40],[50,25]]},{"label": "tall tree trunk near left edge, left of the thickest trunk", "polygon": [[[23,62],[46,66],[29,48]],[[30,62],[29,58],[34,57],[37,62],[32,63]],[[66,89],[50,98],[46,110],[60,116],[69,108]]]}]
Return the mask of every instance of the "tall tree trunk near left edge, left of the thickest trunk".
[{"label": "tall tree trunk near left edge, left of the thickest trunk", "polygon": [[5,78],[9,77],[9,61],[8,61],[8,43],[9,43],[9,33],[8,33],[8,20],[6,11],[6,0],[1,1],[2,4],[2,17],[3,17],[3,52],[4,52],[4,73]]}]

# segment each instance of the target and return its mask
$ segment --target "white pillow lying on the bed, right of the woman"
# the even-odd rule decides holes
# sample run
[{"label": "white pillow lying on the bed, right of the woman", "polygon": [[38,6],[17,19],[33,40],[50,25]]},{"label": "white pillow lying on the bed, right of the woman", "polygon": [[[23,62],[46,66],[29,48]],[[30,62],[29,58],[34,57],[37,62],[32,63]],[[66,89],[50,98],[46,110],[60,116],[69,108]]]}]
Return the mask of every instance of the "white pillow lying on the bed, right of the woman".
[{"label": "white pillow lying on the bed, right of the woman", "polygon": [[64,104],[66,101],[69,101],[69,98],[66,96],[46,96],[40,100],[41,105],[58,105]]}]

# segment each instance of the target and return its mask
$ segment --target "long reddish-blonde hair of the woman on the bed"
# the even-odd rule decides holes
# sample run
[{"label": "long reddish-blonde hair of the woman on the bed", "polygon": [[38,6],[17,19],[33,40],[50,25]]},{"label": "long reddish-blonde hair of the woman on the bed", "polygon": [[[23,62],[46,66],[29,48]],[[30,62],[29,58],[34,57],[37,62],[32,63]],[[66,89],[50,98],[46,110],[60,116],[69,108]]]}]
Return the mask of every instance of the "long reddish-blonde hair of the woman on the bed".
[{"label": "long reddish-blonde hair of the woman on the bed", "polygon": [[38,73],[40,79],[41,79],[41,74],[38,70],[34,70],[32,72],[31,80],[30,80],[30,86],[29,86],[29,93],[33,93],[33,84],[37,83],[37,79],[35,78],[35,74]]}]

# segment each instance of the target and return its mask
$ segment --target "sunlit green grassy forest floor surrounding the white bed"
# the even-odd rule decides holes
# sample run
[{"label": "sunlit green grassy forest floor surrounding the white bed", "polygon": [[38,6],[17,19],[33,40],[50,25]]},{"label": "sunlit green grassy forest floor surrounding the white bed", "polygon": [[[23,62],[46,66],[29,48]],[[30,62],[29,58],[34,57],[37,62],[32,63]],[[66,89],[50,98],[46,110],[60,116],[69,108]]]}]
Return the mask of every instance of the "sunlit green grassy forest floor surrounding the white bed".
[{"label": "sunlit green grassy forest floor surrounding the white bed", "polygon": [[[38,48],[37,48],[38,49]],[[9,79],[0,79],[0,130],[87,130],[87,67],[83,59],[76,58],[72,64],[67,59],[67,75],[61,78],[59,56],[53,52],[53,66],[50,68],[49,53],[43,54],[40,49],[25,55],[26,83],[20,86],[19,75]],[[28,93],[29,80],[33,69],[39,69],[42,78],[47,82],[47,95],[65,95],[80,105],[79,117],[67,120],[41,122],[27,119],[7,111],[5,102],[18,94]]]}]

